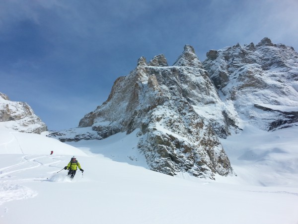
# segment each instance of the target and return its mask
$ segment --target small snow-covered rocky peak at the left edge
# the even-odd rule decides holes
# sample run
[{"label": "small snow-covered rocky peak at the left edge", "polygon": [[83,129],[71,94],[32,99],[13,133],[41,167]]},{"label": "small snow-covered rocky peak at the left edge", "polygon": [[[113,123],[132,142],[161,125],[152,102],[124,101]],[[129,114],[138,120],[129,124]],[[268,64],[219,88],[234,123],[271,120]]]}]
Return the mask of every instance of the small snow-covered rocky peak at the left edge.
[{"label": "small snow-covered rocky peak at the left edge", "polygon": [[23,102],[9,101],[5,94],[0,93],[0,122],[20,132],[40,134],[47,126],[36,116],[30,106]]}]

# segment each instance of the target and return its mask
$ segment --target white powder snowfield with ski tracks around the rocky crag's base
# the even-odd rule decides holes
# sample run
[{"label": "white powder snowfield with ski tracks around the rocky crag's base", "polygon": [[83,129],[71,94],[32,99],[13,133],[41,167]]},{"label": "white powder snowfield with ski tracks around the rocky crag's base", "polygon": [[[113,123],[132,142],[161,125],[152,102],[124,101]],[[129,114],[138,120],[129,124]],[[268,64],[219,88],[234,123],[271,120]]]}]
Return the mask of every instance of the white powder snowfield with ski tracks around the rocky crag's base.
[{"label": "white powder snowfield with ski tracks around the rocky crag's base", "polygon": [[213,181],[146,169],[136,132],[65,144],[0,123],[0,224],[297,224],[297,136],[244,125],[221,140],[237,176]]}]

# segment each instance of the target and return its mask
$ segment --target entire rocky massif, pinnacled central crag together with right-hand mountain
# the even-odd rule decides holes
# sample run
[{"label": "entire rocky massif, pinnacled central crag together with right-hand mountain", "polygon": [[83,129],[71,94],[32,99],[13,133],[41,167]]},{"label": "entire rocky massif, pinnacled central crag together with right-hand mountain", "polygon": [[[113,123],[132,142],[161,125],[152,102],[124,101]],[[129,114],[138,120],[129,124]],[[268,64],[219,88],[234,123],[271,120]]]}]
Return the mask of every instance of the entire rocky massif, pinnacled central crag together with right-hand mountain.
[{"label": "entire rocky massif, pinnacled central crag together with right-hand mountain", "polygon": [[235,175],[219,138],[245,122],[264,130],[297,125],[298,54],[264,38],[211,50],[202,63],[186,45],[173,66],[164,55],[144,57],[119,77],[101,106],[78,128],[52,133],[61,141],[103,139],[138,130],[138,149],[149,168],[168,175],[187,172],[214,179]]}]

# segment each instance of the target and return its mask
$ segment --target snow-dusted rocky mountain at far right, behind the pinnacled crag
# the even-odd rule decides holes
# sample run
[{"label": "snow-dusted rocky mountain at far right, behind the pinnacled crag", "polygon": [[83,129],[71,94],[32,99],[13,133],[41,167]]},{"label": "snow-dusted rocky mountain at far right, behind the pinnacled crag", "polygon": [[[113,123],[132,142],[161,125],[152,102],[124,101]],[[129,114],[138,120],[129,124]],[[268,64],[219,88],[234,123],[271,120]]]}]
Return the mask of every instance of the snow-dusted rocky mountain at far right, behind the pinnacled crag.
[{"label": "snow-dusted rocky mountain at far right, behind the pinnacled crag", "polygon": [[209,51],[204,68],[223,99],[236,112],[264,130],[298,122],[298,53],[293,47],[264,38]]}]

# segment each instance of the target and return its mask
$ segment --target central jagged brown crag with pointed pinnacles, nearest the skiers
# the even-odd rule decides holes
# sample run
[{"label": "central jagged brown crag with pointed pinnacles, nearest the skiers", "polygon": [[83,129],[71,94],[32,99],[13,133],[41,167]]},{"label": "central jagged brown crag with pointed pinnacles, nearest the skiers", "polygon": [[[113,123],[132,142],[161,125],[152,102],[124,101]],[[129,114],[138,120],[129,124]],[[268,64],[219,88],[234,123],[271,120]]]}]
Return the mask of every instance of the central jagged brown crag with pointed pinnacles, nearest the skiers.
[{"label": "central jagged brown crag with pointed pinnacles, nearest the skiers", "polygon": [[150,169],[214,178],[216,173],[233,174],[217,135],[229,134],[228,116],[234,114],[186,45],[173,66],[163,55],[149,63],[141,57],[137,68],[115,81],[107,101],[86,114],[79,127],[91,126],[102,138],[139,128],[138,147]]}]

